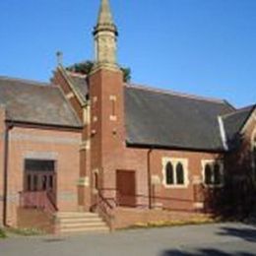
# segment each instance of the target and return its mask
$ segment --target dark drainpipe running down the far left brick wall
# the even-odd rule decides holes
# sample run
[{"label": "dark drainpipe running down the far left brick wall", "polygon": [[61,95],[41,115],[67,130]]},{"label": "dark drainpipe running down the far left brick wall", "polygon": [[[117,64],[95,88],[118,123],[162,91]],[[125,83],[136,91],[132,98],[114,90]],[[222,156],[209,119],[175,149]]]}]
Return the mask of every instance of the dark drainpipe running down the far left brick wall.
[{"label": "dark drainpipe running down the far left brick wall", "polygon": [[8,195],[8,160],[9,160],[9,131],[13,125],[6,123],[4,134],[4,187],[3,187],[3,224],[7,225],[7,195]]}]

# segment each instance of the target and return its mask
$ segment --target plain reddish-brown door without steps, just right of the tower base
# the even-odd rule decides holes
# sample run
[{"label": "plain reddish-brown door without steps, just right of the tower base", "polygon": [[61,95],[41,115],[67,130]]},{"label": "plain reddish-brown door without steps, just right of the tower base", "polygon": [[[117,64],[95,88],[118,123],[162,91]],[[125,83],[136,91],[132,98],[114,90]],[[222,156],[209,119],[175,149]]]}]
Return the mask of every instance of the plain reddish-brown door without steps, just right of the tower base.
[{"label": "plain reddish-brown door without steps, just right of the tower base", "polygon": [[136,206],[136,178],[135,171],[116,171],[117,201],[120,206]]}]

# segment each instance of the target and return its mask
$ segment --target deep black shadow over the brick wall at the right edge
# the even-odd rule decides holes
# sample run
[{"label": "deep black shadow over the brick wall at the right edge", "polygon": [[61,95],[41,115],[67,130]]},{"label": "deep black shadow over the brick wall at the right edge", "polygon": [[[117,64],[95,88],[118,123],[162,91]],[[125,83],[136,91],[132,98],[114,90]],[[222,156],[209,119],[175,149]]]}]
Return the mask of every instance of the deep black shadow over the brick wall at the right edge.
[{"label": "deep black shadow over the brick wall at the right edge", "polygon": [[256,210],[256,175],[252,167],[251,143],[237,136],[233,145],[238,150],[215,160],[216,163],[224,162],[224,186],[204,188],[204,203],[205,210],[218,217],[243,220]]}]

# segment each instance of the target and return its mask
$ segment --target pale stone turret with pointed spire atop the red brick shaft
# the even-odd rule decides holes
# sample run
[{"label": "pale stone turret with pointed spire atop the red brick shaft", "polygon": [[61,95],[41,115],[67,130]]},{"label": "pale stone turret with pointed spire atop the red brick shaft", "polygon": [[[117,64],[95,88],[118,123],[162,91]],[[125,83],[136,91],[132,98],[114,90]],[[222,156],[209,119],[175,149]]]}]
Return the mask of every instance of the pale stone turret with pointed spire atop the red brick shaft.
[{"label": "pale stone turret with pointed spire atop the red brick shaft", "polygon": [[96,27],[94,29],[96,67],[117,68],[117,28],[113,23],[108,0],[101,0]]}]

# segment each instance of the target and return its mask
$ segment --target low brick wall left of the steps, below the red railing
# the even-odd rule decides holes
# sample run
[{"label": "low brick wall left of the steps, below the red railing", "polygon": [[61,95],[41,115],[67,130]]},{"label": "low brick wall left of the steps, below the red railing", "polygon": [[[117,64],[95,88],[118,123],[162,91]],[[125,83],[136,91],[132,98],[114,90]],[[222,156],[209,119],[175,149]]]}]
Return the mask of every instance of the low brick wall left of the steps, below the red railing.
[{"label": "low brick wall left of the steps, below the red railing", "polygon": [[47,233],[54,233],[54,218],[37,209],[18,208],[19,228],[38,228]]}]

